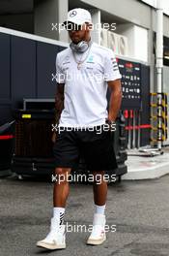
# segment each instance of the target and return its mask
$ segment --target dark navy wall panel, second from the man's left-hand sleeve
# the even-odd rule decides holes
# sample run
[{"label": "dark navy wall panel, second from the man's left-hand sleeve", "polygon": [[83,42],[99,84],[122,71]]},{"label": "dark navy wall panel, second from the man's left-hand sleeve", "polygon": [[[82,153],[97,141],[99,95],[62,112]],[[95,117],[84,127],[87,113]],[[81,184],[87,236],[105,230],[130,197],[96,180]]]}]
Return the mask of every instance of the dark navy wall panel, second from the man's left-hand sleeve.
[{"label": "dark navy wall panel, second from the man's left-hand sleeve", "polygon": [[13,107],[23,98],[36,97],[36,42],[12,37],[12,99]]}]

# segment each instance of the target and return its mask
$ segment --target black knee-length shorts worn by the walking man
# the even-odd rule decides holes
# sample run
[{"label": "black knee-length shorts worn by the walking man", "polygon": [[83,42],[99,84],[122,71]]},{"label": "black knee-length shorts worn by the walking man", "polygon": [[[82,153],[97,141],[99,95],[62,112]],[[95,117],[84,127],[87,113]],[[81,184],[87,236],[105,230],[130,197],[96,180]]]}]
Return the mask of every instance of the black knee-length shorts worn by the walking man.
[{"label": "black knee-length shorts worn by the walking man", "polygon": [[96,126],[94,131],[87,129],[60,131],[53,146],[55,167],[74,168],[80,157],[83,157],[89,171],[116,169],[117,162],[112,142],[113,132],[103,131],[103,126]]}]

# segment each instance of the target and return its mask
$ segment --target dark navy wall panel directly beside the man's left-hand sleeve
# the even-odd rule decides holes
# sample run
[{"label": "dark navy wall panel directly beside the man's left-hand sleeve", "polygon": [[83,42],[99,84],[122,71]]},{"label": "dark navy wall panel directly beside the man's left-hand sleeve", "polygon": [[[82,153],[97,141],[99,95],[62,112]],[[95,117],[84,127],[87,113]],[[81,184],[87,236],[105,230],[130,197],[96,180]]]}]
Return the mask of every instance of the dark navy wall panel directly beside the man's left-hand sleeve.
[{"label": "dark navy wall panel directly beside the man's left-hand sleeve", "polygon": [[54,98],[56,90],[56,55],[59,47],[37,43],[37,97]]}]

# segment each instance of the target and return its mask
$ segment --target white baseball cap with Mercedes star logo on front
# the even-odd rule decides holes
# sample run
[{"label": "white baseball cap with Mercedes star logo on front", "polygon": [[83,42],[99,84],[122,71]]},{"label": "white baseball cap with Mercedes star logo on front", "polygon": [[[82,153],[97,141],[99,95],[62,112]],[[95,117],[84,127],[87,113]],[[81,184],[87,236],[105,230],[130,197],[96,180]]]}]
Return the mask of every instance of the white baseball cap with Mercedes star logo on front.
[{"label": "white baseball cap with Mercedes star logo on front", "polygon": [[82,8],[75,8],[70,10],[68,13],[68,18],[66,21],[64,21],[64,25],[66,26],[69,23],[74,23],[77,25],[82,25],[85,22],[92,23],[92,17],[91,14]]}]

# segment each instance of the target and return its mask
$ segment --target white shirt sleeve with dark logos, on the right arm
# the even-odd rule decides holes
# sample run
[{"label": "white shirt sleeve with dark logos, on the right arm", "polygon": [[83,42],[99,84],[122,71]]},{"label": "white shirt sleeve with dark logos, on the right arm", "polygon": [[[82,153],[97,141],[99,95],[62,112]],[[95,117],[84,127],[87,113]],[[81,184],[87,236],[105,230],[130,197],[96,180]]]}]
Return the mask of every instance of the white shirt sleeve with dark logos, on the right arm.
[{"label": "white shirt sleeve with dark logos, on the right arm", "polygon": [[104,80],[120,80],[122,76],[119,72],[118,63],[116,61],[113,50],[109,50],[104,58]]}]

